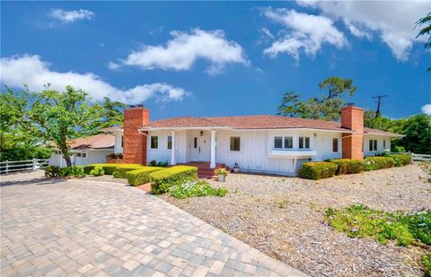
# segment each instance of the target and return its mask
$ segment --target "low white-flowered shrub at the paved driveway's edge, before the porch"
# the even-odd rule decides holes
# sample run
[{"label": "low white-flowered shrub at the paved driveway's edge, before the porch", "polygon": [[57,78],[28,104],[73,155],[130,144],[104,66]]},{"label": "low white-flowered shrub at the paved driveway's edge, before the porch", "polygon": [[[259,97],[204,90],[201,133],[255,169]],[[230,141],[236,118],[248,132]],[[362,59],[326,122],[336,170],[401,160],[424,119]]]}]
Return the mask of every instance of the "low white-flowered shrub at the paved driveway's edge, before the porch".
[{"label": "low white-flowered shrub at the paved driveway's edge, before the porch", "polygon": [[214,188],[206,180],[188,180],[181,185],[171,186],[168,194],[179,199],[207,195],[224,197],[227,189],[225,187]]}]

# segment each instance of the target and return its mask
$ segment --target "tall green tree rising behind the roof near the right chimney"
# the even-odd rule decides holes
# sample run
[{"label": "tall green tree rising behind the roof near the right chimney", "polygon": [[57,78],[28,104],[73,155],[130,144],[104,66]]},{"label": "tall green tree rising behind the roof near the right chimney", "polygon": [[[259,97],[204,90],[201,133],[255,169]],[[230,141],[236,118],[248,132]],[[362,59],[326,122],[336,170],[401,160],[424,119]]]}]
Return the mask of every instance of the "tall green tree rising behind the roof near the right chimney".
[{"label": "tall green tree rising behind the roof near the right chimney", "polygon": [[355,94],[356,86],[351,79],[332,76],[319,83],[327,93],[309,100],[300,100],[301,95],[286,92],[277,108],[277,115],[323,120],[338,120],[339,110],[345,105],[345,96]]}]

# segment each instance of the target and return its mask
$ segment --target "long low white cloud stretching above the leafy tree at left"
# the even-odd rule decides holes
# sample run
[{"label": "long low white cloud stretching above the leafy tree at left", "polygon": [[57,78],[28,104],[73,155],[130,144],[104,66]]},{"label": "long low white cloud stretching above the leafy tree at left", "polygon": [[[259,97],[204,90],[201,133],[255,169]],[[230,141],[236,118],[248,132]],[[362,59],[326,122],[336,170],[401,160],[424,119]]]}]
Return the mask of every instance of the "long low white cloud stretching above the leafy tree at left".
[{"label": "long low white cloud stretching above the leafy tree at left", "polygon": [[1,82],[10,87],[22,87],[25,83],[31,91],[43,90],[43,85],[50,83],[51,88],[63,91],[66,85],[82,89],[89,93],[93,100],[103,97],[119,100],[127,104],[138,104],[153,98],[158,101],[182,100],[189,92],[173,87],[167,83],[150,83],[138,85],[128,90],[116,88],[101,80],[96,74],[78,74],[74,72],[56,72],[48,68],[48,63],[40,56],[13,56],[1,58]]}]

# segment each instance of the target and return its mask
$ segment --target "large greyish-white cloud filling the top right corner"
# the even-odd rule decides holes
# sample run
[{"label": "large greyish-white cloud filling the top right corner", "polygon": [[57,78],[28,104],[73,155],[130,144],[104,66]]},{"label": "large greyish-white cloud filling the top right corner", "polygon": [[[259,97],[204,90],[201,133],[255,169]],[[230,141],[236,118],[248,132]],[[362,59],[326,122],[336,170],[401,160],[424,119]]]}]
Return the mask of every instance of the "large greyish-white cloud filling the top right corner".
[{"label": "large greyish-white cloud filling the top right corner", "polygon": [[[425,1],[297,1],[303,6],[321,10],[333,20],[346,22],[347,28],[357,37],[377,32],[393,56],[401,61],[409,59],[418,29],[415,23],[431,9]],[[350,24],[350,25],[349,25]],[[356,30],[350,27],[354,26]],[[358,27],[360,26],[360,27]],[[416,39],[425,41],[426,38]]]}]

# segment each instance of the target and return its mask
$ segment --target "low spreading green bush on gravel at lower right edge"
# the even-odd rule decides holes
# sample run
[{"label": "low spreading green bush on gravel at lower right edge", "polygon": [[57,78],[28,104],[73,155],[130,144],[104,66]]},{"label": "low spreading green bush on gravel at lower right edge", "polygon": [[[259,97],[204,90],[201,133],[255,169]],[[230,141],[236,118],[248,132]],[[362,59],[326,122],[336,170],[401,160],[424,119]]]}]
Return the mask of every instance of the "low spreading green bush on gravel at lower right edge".
[{"label": "low spreading green bush on gravel at lower right edge", "polygon": [[431,211],[392,213],[358,204],[343,210],[328,208],[326,221],[350,238],[374,238],[383,244],[391,239],[400,246],[416,241],[431,245]]}]

